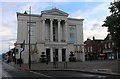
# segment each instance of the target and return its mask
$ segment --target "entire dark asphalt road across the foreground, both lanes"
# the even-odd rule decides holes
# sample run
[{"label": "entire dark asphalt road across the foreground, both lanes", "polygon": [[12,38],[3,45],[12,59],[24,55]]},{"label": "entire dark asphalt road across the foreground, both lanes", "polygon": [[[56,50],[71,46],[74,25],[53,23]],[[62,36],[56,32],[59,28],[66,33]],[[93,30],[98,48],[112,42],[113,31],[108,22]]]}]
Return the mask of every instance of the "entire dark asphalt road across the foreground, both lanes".
[{"label": "entire dark asphalt road across the foreground, both lanes", "polygon": [[2,77],[3,79],[119,79],[115,76],[75,71],[28,71],[14,68],[6,63],[2,64]]}]

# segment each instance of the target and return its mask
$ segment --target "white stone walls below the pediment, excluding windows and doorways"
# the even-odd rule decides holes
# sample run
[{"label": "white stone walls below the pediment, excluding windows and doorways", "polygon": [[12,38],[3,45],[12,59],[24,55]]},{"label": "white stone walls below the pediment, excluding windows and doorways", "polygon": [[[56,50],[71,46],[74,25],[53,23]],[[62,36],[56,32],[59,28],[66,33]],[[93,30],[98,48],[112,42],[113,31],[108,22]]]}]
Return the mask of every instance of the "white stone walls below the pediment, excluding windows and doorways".
[{"label": "white stone walls below the pediment, excluding windows and doorways", "polygon": [[[62,27],[60,26],[60,40],[65,39],[66,42],[49,42],[49,41],[45,41],[45,39],[47,38],[51,38],[49,37],[49,33],[50,33],[50,28],[48,30],[47,29],[48,26],[45,23],[46,19],[56,19],[58,21],[64,20],[65,24]],[[25,51],[22,53],[22,58],[24,60],[24,63],[28,63],[28,56],[29,56],[29,52],[28,52],[28,26],[27,26],[27,21],[29,21],[29,16],[25,15],[25,14],[21,14],[18,13],[17,14],[17,20],[18,20],[18,30],[17,30],[17,43],[22,43],[23,40],[25,40],[25,43],[27,44],[25,46]],[[59,16],[59,15],[49,15],[49,14],[42,14],[40,15],[32,15],[31,16],[31,21],[32,22],[36,22],[35,24],[35,38],[34,38],[34,42],[32,42],[32,44],[37,43],[37,50],[38,50],[38,54],[32,54],[31,56],[31,61],[39,61],[39,58],[41,57],[41,52],[46,52],[46,45],[47,43],[49,43],[50,46],[49,47],[50,50],[50,55],[51,55],[51,62],[53,62],[53,47],[52,46],[56,46],[56,48],[58,49],[58,59],[59,61],[62,61],[62,48],[65,47],[66,49],[66,61],[69,61],[69,55],[70,52],[74,52],[74,45],[75,44],[83,44],[83,19],[72,19],[72,18],[68,18],[67,16]],[[74,44],[69,44],[70,41],[70,32],[69,32],[69,28],[70,25],[74,25],[75,26],[75,43]],[[58,29],[58,27],[56,28]],[[61,32],[62,31],[62,32]],[[47,34],[46,34],[47,33]],[[56,34],[58,34],[58,30],[56,30]],[[64,35],[64,37],[62,36]],[[47,37],[46,37],[47,36]],[[58,36],[56,35],[56,37],[58,38]],[[62,46],[63,44],[63,46]],[[59,46],[60,45],[60,46]],[[81,56],[81,55],[80,55]],[[84,56],[84,55],[82,55]],[[17,58],[19,58],[19,54],[17,55]],[[82,58],[82,57],[80,57]]]}]

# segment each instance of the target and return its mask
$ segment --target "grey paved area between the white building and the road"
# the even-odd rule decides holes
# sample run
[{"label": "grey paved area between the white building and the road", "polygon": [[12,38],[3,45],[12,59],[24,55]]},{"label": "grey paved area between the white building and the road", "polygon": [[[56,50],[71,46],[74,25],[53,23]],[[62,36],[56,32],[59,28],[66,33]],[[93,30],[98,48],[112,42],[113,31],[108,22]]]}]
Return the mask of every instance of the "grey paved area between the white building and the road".
[{"label": "grey paved area between the white building and the road", "polygon": [[22,70],[30,71],[76,71],[92,74],[103,74],[120,76],[118,73],[118,60],[104,60],[104,61],[85,61],[85,62],[59,62],[55,67],[53,63],[32,63],[31,69],[28,64],[22,64],[21,67],[13,62],[10,65]]}]

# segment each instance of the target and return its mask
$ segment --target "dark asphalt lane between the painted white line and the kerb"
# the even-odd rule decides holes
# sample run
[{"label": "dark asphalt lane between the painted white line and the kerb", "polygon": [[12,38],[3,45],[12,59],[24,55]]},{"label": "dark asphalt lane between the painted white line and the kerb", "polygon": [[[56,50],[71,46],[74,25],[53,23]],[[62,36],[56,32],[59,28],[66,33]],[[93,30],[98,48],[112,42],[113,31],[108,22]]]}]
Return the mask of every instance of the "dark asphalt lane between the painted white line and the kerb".
[{"label": "dark asphalt lane between the painted white line and the kerb", "polygon": [[37,71],[56,79],[120,79],[119,76],[90,74],[76,71]]}]

